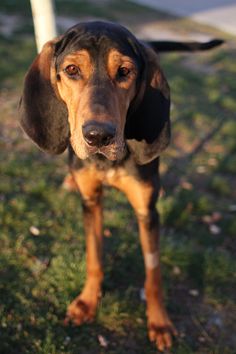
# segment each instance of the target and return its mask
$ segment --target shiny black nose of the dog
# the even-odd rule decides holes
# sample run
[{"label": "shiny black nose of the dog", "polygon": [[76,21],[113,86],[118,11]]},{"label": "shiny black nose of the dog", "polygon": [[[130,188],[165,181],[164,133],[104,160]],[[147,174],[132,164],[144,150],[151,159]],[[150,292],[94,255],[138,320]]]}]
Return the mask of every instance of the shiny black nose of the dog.
[{"label": "shiny black nose of the dog", "polygon": [[90,146],[102,147],[110,144],[116,129],[112,123],[89,121],[82,126],[82,132]]}]

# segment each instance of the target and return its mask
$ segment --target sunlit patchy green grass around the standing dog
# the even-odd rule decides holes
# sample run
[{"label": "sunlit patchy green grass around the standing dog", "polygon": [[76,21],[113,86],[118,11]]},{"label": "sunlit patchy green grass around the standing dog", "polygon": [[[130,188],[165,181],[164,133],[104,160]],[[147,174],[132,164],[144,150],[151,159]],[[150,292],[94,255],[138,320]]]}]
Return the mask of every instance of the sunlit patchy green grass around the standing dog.
[{"label": "sunlit patchy green grass around the standing dog", "polygon": [[[66,154],[43,154],[18,127],[23,75],[35,56],[23,3],[0,5],[5,13],[26,16],[0,43],[0,353],[155,353],[139,295],[144,271],[136,221],[115,190],[105,191],[104,228],[111,237],[105,238],[97,319],[80,328],[63,326],[66,307],[85,279],[81,203],[61,189]],[[122,21],[124,12],[123,21],[134,28],[137,21],[161,20],[160,13],[127,1],[68,3],[56,2],[59,13],[74,14],[76,5],[81,16]],[[163,28],[168,21],[176,31],[193,26],[166,16]],[[165,298],[180,332],[175,354],[235,353],[235,59],[230,40],[208,53],[161,58],[174,102],[158,207]]]}]

